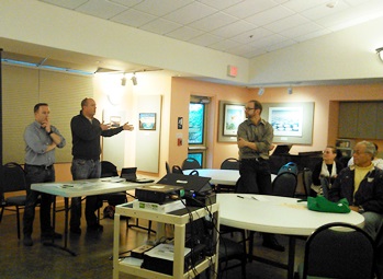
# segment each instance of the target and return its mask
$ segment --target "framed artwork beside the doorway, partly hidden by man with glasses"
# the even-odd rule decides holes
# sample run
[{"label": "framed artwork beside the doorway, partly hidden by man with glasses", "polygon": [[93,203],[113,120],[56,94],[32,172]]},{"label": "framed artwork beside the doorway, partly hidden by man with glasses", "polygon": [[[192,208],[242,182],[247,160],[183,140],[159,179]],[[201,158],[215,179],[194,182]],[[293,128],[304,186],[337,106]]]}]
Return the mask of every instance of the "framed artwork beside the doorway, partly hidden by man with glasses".
[{"label": "framed artwork beside the doorway, partly hidden by man with glasses", "polygon": [[218,141],[236,142],[238,126],[245,119],[245,104],[221,101]]}]

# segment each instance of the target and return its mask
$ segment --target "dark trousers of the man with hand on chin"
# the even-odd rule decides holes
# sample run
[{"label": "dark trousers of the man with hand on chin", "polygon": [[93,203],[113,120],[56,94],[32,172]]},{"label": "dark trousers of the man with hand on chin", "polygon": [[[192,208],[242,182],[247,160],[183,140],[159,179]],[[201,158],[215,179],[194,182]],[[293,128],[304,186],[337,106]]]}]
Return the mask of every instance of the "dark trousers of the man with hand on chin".
[{"label": "dark trousers of the man with hand on chin", "polygon": [[49,233],[53,231],[50,225],[50,206],[53,202],[53,196],[49,194],[40,193],[31,189],[33,183],[45,183],[55,181],[55,168],[44,168],[40,166],[33,166],[25,164],[26,173],[26,202],[23,217],[23,233],[32,235],[33,221],[35,218],[35,207],[38,196],[41,196],[40,208],[40,225],[42,233]]}]

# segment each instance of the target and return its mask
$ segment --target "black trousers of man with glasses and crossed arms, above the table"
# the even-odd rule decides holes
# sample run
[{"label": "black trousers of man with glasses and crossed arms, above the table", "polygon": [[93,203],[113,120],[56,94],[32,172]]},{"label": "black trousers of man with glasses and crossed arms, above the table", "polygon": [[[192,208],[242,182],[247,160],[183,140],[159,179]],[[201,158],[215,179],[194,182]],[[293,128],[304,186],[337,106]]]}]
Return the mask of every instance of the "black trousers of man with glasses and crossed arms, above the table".
[{"label": "black trousers of man with glasses and crossed arms, above the table", "polygon": [[268,160],[243,159],[239,162],[241,184],[237,191],[271,195],[271,171]]}]

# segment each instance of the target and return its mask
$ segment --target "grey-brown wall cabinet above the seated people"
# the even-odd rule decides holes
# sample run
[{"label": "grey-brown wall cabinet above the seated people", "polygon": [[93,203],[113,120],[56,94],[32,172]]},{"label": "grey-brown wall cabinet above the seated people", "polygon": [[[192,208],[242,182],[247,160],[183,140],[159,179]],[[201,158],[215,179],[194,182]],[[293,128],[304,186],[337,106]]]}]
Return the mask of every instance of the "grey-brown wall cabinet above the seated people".
[{"label": "grey-brown wall cabinet above the seated people", "polygon": [[341,102],[340,138],[383,139],[383,102]]}]

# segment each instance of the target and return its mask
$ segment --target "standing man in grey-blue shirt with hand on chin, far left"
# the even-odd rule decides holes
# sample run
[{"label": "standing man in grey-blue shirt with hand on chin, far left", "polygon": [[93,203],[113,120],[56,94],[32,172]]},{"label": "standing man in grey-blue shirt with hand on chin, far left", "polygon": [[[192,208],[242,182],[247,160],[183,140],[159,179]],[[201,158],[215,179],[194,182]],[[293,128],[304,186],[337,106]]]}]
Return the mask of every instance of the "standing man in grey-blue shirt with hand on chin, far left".
[{"label": "standing man in grey-blue shirt with hand on chin, far left", "polygon": [[65,138],[58,129],[50,125],[49,107],[46,103],[38,103],[34,106],[35,121],[29,125],[24,131],[25,147],[25,173],[26,173],[26,204],[23,217],[23,243],[32,246],[33,220],[35,206],[41,196],[40,223],[41,236],[43,239],[60,239],[61,235],[54,232],[50,225],[52,195],[31,189],[33,183],[45,183],[55,181],[55,150],[64,148]]}]

